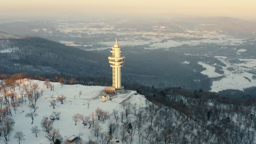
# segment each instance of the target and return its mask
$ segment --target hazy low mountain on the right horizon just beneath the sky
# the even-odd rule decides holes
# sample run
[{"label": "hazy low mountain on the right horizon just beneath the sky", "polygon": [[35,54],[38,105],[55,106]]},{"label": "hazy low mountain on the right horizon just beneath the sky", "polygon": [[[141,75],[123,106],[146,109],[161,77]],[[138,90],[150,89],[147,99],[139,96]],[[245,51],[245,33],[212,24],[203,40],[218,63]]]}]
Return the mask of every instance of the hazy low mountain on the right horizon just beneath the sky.
[{"label": "hazy low mountain on the right horizon just beneath the sky", "polygon": [[187,29],[216,31],[219,34],[234,36],[255,36],[256,21],[231,17],[181,18],[175,21]]}]

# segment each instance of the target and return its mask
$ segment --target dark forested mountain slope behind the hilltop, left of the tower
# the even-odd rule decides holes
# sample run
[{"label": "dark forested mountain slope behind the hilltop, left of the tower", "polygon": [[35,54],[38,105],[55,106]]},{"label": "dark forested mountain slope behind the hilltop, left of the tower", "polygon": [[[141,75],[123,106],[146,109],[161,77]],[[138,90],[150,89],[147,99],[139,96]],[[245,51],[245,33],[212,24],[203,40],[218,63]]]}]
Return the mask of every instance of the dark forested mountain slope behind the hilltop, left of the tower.
[{"label": "dark forested mountain slope behind the hilltop, left of the tower", "polygon": [[[0,41],[1,73],[68,73],[99,76],[107,73],[103,56],[39,37]],[[98,61],[96,61],[96,59]]]}]

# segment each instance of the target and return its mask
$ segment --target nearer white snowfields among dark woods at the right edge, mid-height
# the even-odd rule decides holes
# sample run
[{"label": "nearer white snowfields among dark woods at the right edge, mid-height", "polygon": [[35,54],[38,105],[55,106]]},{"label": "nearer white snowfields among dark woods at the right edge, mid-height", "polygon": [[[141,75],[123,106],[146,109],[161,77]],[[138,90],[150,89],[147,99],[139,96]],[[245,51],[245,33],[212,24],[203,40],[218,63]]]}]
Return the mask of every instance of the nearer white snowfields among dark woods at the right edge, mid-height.
[{"label": "nearer white snowfields among dark woods at the right edge, mid-height", "polygon": [[213,81],[211,91],[218,92],[225,89],[243,90],[244,88],[256,86],[256,79],[253,79],[255,75],[251,73],[251,71],[256,70],[256,59],[239,59],[243,63],[235,64],[230,63],[229,59],[225,56],[215,56],[215,58],[226,65],[226,67],[222,66],[224,74],[214,72],[215,67],[212,65],[198,62],[198,64],[206,68],[206,70],[201,71],[202,74],[208,77],[223,76],[222,79]]}]

